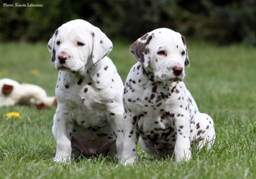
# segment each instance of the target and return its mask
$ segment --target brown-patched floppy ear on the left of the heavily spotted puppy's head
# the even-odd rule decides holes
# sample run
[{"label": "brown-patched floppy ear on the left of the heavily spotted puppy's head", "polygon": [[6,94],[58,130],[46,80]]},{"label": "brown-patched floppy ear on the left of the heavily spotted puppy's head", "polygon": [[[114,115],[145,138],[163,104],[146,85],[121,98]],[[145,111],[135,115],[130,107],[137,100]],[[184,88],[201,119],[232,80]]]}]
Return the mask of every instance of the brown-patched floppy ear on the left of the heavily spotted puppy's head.
[{"label": "brown-patched floppy ear on the left of the heavily spotted puppy's head", "polygon": [[145,34],[141,38],[139,38],[136,42],[134,42],[130,51],[136,59],[143,64],[146,68],[149,65],[150,57],[149,57],[149,42],[153,38],[152,35]]}]

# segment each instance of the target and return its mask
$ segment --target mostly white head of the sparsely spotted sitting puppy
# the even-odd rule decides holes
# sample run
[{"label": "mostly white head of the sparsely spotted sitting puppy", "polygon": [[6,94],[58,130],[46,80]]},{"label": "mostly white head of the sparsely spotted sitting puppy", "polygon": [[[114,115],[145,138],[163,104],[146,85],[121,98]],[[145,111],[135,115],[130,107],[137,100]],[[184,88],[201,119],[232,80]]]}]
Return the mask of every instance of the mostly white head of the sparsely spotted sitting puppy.
[{"label": "mostly white head of the sparsely spotted sitting puppy", "polygon": [[86,65],[96,65],[112,48],[99,28],[83,20],[63,24],[48,42],[51,60],[62,71],[83,72]]}]

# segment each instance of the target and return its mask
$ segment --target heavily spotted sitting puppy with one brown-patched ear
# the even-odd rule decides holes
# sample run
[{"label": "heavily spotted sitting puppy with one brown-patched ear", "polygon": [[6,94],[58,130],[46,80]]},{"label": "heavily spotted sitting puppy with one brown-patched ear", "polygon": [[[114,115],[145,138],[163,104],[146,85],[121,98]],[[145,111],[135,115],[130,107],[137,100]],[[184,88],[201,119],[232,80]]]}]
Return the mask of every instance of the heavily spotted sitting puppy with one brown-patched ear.
[{"label": "heavily spotted sitting puppy with one brown-patched ear", "polygon": [[[191,158],[191,142],[199,149],[214,143],[214,122],[198,111],[185,87],[184,65],[190,65],[184,36],[161,28],[131,45],[138,62],[127,76],[123,93],[124,150],[122,162],[132,164],[136,144],[151,156]],[[139,137],[140,136],[140,137]]]}]

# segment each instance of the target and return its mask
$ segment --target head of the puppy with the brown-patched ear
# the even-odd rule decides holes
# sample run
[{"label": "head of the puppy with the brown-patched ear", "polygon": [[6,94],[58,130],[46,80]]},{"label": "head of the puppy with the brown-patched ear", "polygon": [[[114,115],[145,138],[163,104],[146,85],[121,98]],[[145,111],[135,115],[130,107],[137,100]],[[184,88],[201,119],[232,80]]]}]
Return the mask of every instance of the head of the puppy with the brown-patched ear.
[{"label": "head of the puppy with the brown-patched ear", "polygon": [[190,65],[184,36],[166,28],[145,34],[131,45],[130,51],[144,68],[153,69],[159,81],[182,81],[184,65]]}]

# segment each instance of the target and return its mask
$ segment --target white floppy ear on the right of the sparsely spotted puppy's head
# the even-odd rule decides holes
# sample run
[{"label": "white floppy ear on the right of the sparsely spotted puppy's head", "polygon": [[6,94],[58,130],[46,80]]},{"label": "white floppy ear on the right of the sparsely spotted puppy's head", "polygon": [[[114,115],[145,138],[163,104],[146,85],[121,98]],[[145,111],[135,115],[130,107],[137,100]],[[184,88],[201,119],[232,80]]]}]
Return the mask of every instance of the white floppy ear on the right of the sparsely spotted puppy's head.
[{"label": "white floppy ear on the right of the sparsely spotted puppy's head", "polygon": [[93,51],[92,51],[92,58],[93,63],[96,65],[103,57],[107,56],[109,52],[113,49],[113,44],[108,37],[102,33],[102,31],[95,27],[92,30],[93,36]]}]

